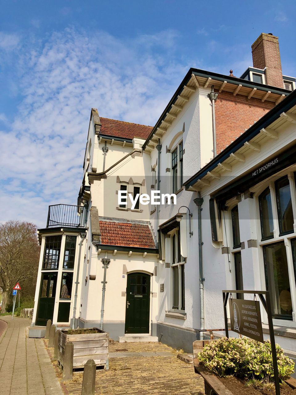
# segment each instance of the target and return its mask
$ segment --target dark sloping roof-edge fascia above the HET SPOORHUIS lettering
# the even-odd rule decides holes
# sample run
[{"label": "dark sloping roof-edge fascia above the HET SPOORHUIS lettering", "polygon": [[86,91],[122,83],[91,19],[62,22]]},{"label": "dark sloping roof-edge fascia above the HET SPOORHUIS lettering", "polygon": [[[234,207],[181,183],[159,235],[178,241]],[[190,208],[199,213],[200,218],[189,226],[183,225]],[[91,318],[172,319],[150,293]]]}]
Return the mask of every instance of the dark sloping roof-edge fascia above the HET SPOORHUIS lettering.
[{"label": "dark sloping roof-edge fascia above the HET SPOORHUIS lettering", "polygon": [[289,94],[279,104],[275,105],[268,113],[260,118],[255,124],[240,135],[235,141],[233,141],[227,148],[221,151],[214,159],[212,159],[206,166],[202,167],[195,175],[190,177],[186,182],[183,183],[185,189],[188,190],[193,187],[200,179],[206,176],[209,172],[213,171],[219,164],[223,163],[231,154],[234,154],[244,144],[250,141],[253,137],[258,135],[262,129],[268,128],[272,122],[277,120],[281,114],[286,113],[292,107],[296,105],[296,90]]}]

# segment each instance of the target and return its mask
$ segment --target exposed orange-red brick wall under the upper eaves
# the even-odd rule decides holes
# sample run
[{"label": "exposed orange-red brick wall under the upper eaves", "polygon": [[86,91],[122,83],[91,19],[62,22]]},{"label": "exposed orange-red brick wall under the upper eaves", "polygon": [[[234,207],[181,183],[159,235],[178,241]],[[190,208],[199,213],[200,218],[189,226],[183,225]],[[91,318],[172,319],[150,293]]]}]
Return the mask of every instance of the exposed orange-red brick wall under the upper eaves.
[{"label": "exposed orange-red brick wall under the upper eaves", "polygon": [[221,92],[215,102],[217,154],[234,141],[245,129],[266,114],[275,103],[230,92]]}]

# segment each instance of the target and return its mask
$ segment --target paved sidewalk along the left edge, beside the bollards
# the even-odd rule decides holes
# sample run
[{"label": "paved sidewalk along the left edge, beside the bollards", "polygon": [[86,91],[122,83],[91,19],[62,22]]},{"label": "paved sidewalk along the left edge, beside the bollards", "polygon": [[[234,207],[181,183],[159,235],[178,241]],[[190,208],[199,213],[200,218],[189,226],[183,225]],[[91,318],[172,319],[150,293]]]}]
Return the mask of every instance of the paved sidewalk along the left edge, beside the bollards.
[{"label": "paved sidewalk along the left edge, beside the bollards", "polygon": [[1,395],[64,395],[42,339],[29,339],[31,320],[3,316],[0,338]]}]

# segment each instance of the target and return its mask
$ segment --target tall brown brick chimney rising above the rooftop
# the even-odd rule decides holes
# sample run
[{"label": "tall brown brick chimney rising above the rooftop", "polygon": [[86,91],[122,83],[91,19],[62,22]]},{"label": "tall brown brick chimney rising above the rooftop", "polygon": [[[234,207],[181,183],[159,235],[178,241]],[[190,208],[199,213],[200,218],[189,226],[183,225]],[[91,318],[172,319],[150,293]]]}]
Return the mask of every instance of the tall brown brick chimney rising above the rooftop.
[{"label": "tall brown brick chimney rising above the rooftop", "polygon": [[283,73],[279,55],[279,40],[272,33],[261,33],[252,45],[253,66],[266,67],[266,84],[283,88]]}]

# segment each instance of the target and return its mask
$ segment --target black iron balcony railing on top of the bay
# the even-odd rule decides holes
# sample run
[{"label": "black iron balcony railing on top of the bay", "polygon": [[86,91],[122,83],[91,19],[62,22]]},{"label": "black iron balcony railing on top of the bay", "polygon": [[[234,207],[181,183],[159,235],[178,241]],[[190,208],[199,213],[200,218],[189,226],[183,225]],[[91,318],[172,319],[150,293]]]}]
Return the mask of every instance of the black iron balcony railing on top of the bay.
[{"label": "black iron balcony railing on top of the bay", "polygon": [[86,207],[69,204],[49,206],[47,228],[67,226],[69,228],[84,228],[86,225]]}]

